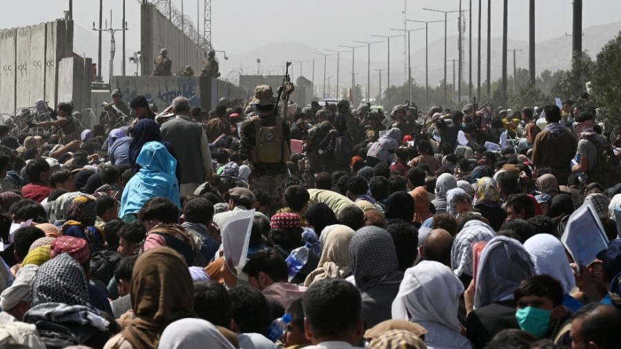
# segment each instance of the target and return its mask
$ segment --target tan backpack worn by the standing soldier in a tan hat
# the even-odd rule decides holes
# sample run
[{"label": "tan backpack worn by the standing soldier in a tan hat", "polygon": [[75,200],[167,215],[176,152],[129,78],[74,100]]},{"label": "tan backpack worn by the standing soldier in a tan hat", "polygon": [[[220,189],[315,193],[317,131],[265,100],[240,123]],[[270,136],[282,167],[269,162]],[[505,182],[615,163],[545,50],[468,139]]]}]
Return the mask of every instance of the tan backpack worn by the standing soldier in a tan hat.
[{"label": "tan backpack worn by the standing soldier in a tan hat", "polygon": [[255,124],[255,148],[253,163],[284,163],[289,160],[290,150],[282,137],[282,118],[276,117],[275,126],[262,126],[259,117],[251,117]]}]

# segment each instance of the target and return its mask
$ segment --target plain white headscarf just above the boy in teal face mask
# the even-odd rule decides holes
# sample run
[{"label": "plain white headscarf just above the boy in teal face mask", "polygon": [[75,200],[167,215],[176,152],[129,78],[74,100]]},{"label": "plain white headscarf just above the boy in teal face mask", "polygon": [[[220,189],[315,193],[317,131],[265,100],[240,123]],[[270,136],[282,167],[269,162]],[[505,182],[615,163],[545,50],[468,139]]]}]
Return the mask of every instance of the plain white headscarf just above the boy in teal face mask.
[{"label": "plain white headscarf just above the boy in teal face mask", "polygon": [[560,281],[564,293],[571,292],[575,277],[559,239],[549,234],[537,234],[524,242],[524,248],[535,263],[537,275],[550,275]]}]

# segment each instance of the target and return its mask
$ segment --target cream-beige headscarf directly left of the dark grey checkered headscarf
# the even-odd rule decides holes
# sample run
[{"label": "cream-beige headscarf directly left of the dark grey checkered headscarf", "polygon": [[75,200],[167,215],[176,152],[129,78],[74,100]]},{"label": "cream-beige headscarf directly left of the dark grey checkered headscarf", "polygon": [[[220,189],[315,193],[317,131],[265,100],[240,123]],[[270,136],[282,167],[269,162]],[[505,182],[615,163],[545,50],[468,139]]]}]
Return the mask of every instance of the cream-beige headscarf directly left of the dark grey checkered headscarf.
[{"label": "cream-beige headscarf directly left of the dark grey checkered headscarf", "polygon": [[335,230],[326,237],[317,269],[306,277],[304,286],[311,286],[311,283],[322,279],[348,277],[351,271],[349,244],[353,236],[353,230]]}]

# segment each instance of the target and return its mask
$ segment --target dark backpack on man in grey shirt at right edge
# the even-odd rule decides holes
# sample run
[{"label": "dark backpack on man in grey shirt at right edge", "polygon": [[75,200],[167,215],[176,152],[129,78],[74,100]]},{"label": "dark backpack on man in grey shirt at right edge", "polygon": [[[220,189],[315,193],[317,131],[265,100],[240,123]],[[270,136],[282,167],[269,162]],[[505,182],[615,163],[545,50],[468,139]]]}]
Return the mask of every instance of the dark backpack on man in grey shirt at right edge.
[{"label": "dark backpack on man in grey shirt at right edge", "polygon": [[584,137],[598,148],[598,162],[595,169],[589,169],[589,181],[599,183],[604,188],[612,188],[621,181],[621,162],[615,155],[613,148],[606,137],[601,143],[593,136]]}]

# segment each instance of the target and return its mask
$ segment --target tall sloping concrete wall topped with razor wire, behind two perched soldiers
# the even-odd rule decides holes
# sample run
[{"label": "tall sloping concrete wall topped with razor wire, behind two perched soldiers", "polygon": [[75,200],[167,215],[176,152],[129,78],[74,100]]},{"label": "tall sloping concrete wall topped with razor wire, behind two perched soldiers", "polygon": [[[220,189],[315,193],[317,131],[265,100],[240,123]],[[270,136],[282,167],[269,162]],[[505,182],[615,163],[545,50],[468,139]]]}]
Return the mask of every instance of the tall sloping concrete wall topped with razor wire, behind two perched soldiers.
[{"label": "tall sloping concrete wall topped with razor wire, behind two perched soldiers", "polygon": [[153,72],[153,61],[162,48],[168,50],[168,58],[172,61],[172,74],[177,74],[184,66],[190,66],[195,74],[200,74],[205,58],[203,50],[155,6],[143,3],[140,6],[141,75],[146,76]]}]

